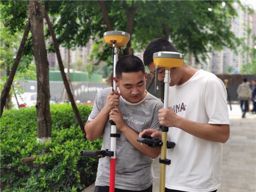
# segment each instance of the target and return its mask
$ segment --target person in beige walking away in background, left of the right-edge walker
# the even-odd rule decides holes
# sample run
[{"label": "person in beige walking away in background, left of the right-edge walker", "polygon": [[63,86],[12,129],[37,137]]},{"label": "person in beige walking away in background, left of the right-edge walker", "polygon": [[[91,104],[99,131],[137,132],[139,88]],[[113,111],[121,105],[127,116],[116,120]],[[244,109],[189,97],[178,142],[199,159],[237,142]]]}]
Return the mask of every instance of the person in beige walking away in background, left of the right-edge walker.
[{"label": "person in beige walking away in background, left of the right-edge walker", "polygon": [[247,79],[243,79],[243,83],[239,84],[236,91],[238,93],[238,99],[240,100],[240,108],[242,111],[242,118],[245,118],[245,114],[249,111],[249,99],[251,98],[250,86],[247,84]]}]

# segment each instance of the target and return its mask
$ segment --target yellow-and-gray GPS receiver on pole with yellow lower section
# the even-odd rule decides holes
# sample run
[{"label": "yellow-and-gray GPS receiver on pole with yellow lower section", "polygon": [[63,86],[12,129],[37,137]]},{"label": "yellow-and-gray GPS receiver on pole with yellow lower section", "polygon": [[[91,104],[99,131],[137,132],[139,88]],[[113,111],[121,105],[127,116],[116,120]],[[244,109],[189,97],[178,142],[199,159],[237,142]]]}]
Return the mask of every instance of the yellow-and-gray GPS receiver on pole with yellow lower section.
[{"label": "yellow-and-gray GPS receiver on pole with yellow lower section", "polygon": [[[159,67],[165,68],[165,78],[164,78],[164,102],[163,108],[168,109],[169,107],[169,84],[171,82],[170,78],[170,70],[173,67],[181,67],[184,61],[184,54],[178,52],[156,52],[153,54],[154,65],[156,66],[156,77],[155,81],[157,81],[157,73]],[[167,148],[172,148],[175,143],[170,142],[172,147],[169,147],[169,142],[167,141],[167,132],[169,131],[168,127],[163,125],[159,126],[162,130],[162,143],[161,146],[161,158],[159,159],[160,165],[160,192],[165,191],[165,179],[166,179],[166,165],[171,164],[171,160],[166,159],[166,151]]]}]

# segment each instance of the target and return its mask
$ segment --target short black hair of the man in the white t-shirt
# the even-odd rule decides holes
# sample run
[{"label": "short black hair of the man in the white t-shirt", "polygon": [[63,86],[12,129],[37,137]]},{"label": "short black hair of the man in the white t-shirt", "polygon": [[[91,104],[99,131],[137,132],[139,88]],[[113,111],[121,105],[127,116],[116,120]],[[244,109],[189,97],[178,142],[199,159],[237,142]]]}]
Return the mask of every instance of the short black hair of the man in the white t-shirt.
[{"label": "short black hair of the man in the white t-shirt", "polygon": [[146,47],[143,54],[143,62],[145,66],[153,62],[153,54],[160,51],[171,51],[178,52],[178,50],[171,44],[170,41],[167,41],[165,38],[157,38],[151,41]]}]

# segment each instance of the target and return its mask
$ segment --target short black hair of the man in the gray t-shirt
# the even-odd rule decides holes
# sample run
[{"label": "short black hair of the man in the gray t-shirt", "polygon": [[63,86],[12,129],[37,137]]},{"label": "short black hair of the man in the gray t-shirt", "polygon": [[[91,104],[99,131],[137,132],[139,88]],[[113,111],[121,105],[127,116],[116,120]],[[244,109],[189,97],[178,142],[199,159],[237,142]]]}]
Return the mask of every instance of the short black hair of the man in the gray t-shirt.
[{"label": "short black hair of the man in the gray t-shirt", "polygon": [[116,78],[122,79],[122,73],[142,71],[145,74],[145,66],[140,58],[134,55],[123,55],[116,62]]}]

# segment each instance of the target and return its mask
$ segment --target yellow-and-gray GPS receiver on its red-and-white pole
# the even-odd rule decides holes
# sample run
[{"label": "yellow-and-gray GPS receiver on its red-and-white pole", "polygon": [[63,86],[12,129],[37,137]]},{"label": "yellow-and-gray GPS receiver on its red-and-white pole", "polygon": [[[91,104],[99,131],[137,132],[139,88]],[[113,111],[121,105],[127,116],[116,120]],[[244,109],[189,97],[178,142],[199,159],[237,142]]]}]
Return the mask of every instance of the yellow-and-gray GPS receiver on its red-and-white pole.
[{"label": "yellow-and-gray GPS receiver on its red-and-white pole", "polygon": [[[106,43],[113,47],[113,78],[116,76],[116,62],[118,61],[119,47],[125,47],[130,40],[130,34],[122,31],[110,31],[104,33],[104,40]],[[116,90],[116,82],[113,81],[112,90]],[[110,179],[109,179],[109,192],[115,191],[115,172],[116,172],[116,137],[120,137],[120,134],[116,134],[116,124],[113,121],[111,123],[111,147],[110,151],[113,152],[113,156],[110,158]]]}]

